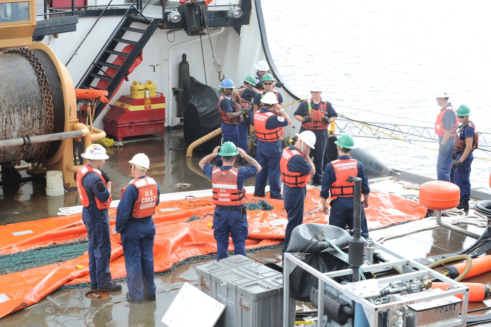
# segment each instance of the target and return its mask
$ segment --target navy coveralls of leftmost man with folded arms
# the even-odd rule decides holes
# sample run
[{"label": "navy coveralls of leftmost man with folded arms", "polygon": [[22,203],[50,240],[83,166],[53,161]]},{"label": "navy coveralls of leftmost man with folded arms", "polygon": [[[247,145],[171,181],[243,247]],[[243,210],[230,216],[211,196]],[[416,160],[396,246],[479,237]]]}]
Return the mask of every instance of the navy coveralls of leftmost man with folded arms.
[{"label": "navy coveralls of leftmost man with folded arms", "polygon": [[106,288],[111,286],[112,280],[109,270],[111,260],[109,212],[108,209],[99,210],[97,208],[95,197],[101,202],[106,202],[111,194],[104,186],[102,179],[95,173],[87,173],[82,179],[82,186],[89,199],[88,207],[82,208],[82,221],[87,227],[90,284],[92,287]]}]

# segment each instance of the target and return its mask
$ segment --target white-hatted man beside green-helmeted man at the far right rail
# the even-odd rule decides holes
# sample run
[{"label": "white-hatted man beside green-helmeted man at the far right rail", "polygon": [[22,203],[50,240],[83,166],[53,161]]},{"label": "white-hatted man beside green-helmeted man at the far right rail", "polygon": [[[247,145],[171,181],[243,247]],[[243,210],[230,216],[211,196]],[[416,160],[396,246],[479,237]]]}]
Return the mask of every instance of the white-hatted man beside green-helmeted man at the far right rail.
[{"label": "white-hatted man beside green-helmeted man at the far right rail", "polygon": [[436,161],[436,178],[438,180],[453,181],[450,176],[452,170],[452,139],[458,121],[455,116],[455,108],[448,102],[447,92],[436,96],[436,103],[441,107],[436,116],[435,134],[438,135],[438,159]]}]

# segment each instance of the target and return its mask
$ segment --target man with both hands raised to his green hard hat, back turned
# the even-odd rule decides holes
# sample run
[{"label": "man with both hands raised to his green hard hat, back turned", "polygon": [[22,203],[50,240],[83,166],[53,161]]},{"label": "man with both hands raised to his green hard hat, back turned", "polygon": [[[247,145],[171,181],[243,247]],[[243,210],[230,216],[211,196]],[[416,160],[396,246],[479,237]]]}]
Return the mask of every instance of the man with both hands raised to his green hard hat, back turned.
[{"label": "man with both hands raised to his green hard hat, back turned", "polygon": [[[220,152],[218,152],[220,149]],[[234,168],[235,156],[240,154],[251,166]],[[214,166],[209,162],[217,155],[222,156],[223,165]],[[213,236],[217,241],[217,261],[229,256],[229,236],[232,238],[235,255],[245,253],[245,240],[249,235],[247,213],[244,208],[244,181],[261,171],[259,163],[243,149],[231,142],[216,147],[199,163],[204,174],[211,178],[213,191]]]}]

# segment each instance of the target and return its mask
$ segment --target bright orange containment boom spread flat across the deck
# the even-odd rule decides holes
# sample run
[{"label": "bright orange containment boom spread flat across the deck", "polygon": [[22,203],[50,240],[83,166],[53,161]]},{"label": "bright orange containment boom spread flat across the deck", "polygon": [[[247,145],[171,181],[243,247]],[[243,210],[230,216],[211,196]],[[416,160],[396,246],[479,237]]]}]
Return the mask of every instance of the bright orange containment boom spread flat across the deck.
[{"label": "bright orange containment boom spread flat across the deck", "polygon": [[[274,208],[270,211],[247,210],[247,250],[279,245],[285,238],[288,217],[283,201],[252,196],[246,196],[245,201],[257,203],[260,200],[266,200]],[[317,188],[307,189],[304,223],[328,223],[329,216],[320,211],[320,200]],[[155,272],[167,271],[188,258],[216,253],[216,240],[211,228],[214,209],[211,196],[160,202],[153,215],[156,227],[153,248]],[[426,211],[417,202],[379,192],[370,193],[370,208],[365,210],[369,229],[422,219]],[[194,217],[198,219],[190,219]],[[112,228],[116,224],[116,208],[109,208],[109,219]],[[119,235],[111,234],[110,237],[111,274],[114,279],[123,278],[126,270],[121,240]],[[41,219],[35,223],[1,225],[0,255],[41,250],[48,245],[86,238],[87,229],[81,214]],[[232,242],[230,244],[229,251],[233,251]],[[63,285],[89,281],[87,251],[75,259],[0,275],[0,318],[38,302]]]}]

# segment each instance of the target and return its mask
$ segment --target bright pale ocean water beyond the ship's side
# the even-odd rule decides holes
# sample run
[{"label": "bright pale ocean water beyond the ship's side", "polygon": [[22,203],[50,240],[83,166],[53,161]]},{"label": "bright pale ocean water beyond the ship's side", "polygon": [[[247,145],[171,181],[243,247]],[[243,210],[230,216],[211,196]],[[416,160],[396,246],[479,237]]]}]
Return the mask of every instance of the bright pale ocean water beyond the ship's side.
[{"label": "bright pale ocean water beyond the ship's side", "polygon": [[[272,57],[297,95],[307,97],[319,84],[323,98],[348,118],[434,126],[436,93],[446,91],[490,133],[485,7],[478,1],[262,0]],[[355,145],[392,168],[436,178],[437,143],[358,137]],[[474,151],[471,184],[489,190],[491,147],[485,149]]]}]

